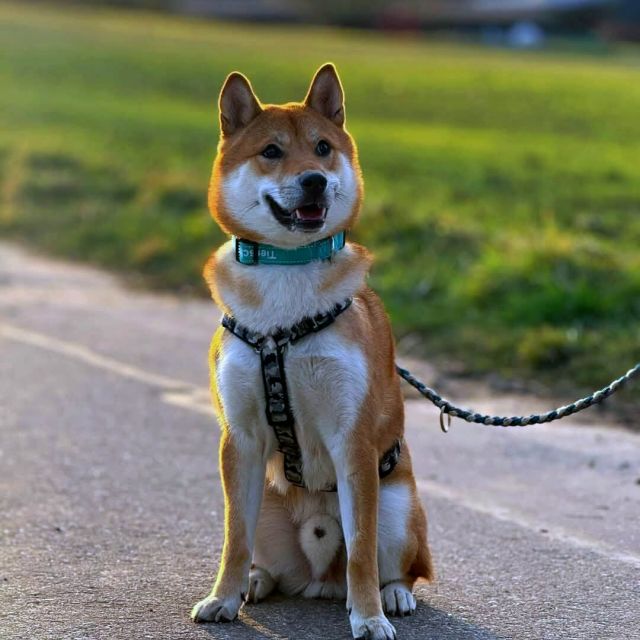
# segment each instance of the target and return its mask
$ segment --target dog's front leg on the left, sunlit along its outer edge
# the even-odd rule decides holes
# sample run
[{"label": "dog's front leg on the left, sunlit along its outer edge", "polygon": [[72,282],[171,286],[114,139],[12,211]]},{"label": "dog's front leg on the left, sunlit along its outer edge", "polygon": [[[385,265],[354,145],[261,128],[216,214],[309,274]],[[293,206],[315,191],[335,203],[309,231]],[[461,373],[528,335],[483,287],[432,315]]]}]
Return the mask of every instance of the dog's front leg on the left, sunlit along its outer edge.
[{"label": "dog's front leg on the left, sunlit along its outer edge", "polygon": [[234,620],[246,599],[266,461],[262,447],[225,429],[220,441],[224,546],[211,593],[191,612],[195,622]]}]

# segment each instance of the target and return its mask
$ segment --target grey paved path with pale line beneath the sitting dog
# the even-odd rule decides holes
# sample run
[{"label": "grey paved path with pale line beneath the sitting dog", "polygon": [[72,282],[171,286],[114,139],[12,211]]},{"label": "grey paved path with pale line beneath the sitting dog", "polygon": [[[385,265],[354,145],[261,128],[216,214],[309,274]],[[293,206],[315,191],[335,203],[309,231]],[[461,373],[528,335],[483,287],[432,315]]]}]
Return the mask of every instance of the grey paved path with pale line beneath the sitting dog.
[{"label": "grey paved path with pale line beneath the sitting dog", "polygon": [[[2,640],[349,638],[332,602],[189,622],[222,530],[217,322],[206,302],[0,244]],[[572,419],[445,436],[407,404],[439,580],[399,637],[638,640],[640,435]]]}]

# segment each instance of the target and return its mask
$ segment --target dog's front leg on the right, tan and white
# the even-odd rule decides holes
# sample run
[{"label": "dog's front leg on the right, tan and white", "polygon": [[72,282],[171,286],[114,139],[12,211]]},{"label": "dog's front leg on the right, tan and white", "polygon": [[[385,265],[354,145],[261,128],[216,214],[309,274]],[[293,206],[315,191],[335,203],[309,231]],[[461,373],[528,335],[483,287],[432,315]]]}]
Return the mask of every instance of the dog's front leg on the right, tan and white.
[{"label": "dog's front leg on the right, tan and white", "polygon": [[378,582],[378,456],[374,449],[341,448],[335,459],[338,500],[347,547],[347,609],[354,638],[393,640]]}]

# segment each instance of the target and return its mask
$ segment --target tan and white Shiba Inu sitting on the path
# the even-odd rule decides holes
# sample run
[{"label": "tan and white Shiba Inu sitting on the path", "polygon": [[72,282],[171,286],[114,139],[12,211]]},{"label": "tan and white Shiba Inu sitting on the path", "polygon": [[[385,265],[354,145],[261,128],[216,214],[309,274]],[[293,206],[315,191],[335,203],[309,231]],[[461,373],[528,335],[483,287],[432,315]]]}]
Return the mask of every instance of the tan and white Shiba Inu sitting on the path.
[{"label": "tan and white Shiba Inu sitting on the path", "polygon": [[326,64],[303,102],[267,105],[232,73],[219,112],[209,208],[232,239],[204,277],[225,314],[209,355],[225,538],[192,618],[278,589],[346,598],[354,638],[390,640],[385,614],[413,613],[434,572],[389,320],[345,242],[363,181],[342,85]]}]

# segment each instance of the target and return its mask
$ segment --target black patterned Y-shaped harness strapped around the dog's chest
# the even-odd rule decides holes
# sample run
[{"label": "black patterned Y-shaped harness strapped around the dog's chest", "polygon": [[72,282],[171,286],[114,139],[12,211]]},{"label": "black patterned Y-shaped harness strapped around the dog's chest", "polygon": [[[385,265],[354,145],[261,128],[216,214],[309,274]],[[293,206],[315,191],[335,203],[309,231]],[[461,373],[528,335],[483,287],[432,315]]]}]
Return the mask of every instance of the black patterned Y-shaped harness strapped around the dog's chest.
[{"label": "black patterned Y-shaped harness strapped around the dog's chest", "polygon": [[[285,478],[298,487],[306,485],[302,476],[302,452],[296,438],[295,420],[287,391],[284,354],[288,345],[295,344],[302,338],[333,324],[335,319],[349,308],[351,302],[352,299],[348,298],[325,313],[308,316],[288,329],[278,329],[269,335],[251,331],[238,324],[231,316],[225,315],[222,318],[222,326],[248,344],[260,356],[267,422],[273,427],[278,441],[278,451],[284,455]],[[382,456],[378,466],[381,478],[395,469],[400,458],[400,449],[401,441],[397,440]],[[335,485],[325,489],[325,491],[335,490]]]}]

